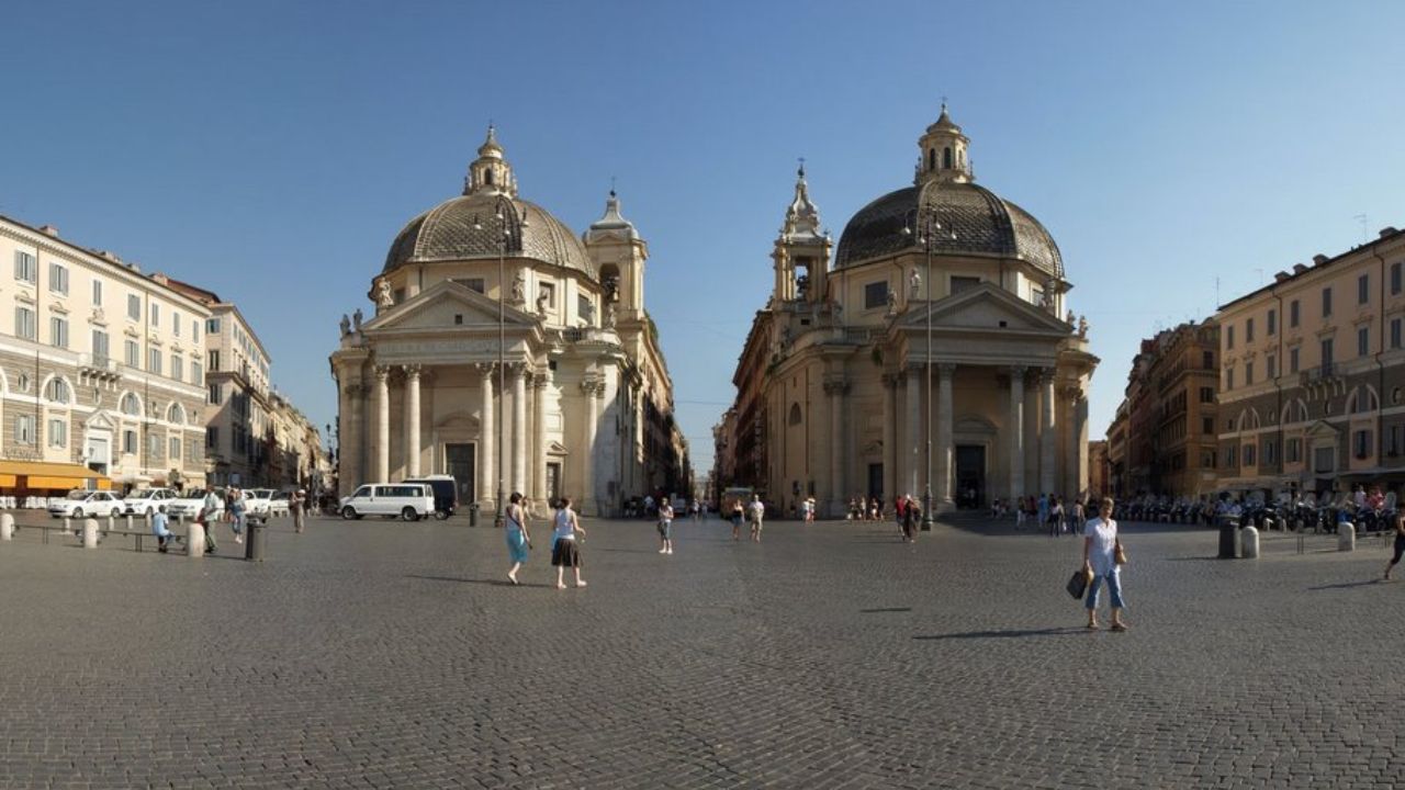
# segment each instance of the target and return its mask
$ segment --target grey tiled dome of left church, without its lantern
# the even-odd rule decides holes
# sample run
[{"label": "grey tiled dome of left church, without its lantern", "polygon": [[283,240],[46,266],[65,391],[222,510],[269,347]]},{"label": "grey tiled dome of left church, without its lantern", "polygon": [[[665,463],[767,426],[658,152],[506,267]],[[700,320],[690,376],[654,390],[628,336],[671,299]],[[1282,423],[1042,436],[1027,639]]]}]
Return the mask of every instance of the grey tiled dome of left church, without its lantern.
[{"label": "grey tiled dome of left church, without its lantern", "polygon": [[[395,236],[382,271],[406,263],[496,259],[497,214],[509,218],[507,257],[540,260],[599,280],[584,245],[570,228],[540,205],[497,191],[451,198],[412,219]],[[525,228],[517,222],[518,216],[527,218]],[[481,229],[473,228],[475,221]]]}]

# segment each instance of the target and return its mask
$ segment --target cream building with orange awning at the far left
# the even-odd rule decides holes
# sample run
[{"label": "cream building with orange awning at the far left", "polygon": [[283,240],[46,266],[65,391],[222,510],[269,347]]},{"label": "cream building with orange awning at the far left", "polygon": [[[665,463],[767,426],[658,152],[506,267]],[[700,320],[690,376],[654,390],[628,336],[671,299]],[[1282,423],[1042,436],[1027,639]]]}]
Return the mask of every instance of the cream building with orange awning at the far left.
[{"label": "cream building with orange awning at the far left", "polygon": [[52,226],[0,216],[0,491],[202,485],[209,311]]}]

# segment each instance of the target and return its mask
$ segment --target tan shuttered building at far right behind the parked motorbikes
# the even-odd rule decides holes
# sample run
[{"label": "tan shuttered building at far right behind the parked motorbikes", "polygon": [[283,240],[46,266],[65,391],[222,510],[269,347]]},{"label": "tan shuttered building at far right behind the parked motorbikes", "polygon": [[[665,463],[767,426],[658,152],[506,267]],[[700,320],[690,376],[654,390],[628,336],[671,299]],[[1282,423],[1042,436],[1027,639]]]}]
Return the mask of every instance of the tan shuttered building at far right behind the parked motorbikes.
[{"label": "tan shuttered building at far right behind the parked motorbikes", "polygon": [[1220,488],[1405,484],[1405,232],[1220,308]]}]

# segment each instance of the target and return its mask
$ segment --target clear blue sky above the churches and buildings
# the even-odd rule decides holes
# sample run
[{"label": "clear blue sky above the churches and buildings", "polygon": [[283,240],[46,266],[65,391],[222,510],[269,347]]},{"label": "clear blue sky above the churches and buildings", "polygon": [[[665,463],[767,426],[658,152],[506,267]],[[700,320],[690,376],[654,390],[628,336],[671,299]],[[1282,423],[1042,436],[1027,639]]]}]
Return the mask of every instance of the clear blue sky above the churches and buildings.
[{"label": "clear blue sky above the churches and buildings", "polygon": [[1103,363],[1405,226],[1399,3],[27,3],[0,13],[0,214],[218,291],[319,425],[327,354],[489,119],[582,231],[615,177],[698,468],[795,159],[837,238],[943,96],[1038,216]]}]

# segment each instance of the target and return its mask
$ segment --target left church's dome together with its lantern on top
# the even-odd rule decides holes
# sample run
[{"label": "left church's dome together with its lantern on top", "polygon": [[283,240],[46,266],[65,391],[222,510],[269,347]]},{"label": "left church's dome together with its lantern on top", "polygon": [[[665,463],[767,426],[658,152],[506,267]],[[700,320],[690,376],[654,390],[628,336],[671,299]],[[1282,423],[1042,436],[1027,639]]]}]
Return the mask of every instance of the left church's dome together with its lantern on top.
[{"label": "left church's dome together with its lantern on top", "polygon": [[[506,250],[500,242],[504,231]],[[391,243],[382,273],[406,263],[496,259],[500,252],[570,268],[592,281],[599,278],[570,228],[545,208],[517,197],[511,166],[489,127],[478,160],[464,180],[464,194],[410,219]]]}]

